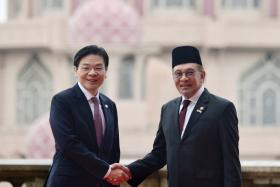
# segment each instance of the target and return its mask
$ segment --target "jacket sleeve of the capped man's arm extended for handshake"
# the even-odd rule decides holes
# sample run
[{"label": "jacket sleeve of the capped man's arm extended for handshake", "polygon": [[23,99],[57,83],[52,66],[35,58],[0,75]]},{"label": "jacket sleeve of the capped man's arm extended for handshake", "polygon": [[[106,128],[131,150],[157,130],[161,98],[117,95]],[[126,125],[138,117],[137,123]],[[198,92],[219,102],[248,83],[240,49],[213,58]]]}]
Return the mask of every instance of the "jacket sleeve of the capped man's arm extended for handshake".
[{"label": "jacket sleeve of the capped man's arm extended for handshake", "polygon": [[162,130],[162,116],[163,109],[152,151],[143,159],[139,159],[127,166],[132,174],[132,179],[128,183],[133,187],[139,185],[145,178],[166,164],[166,142]]}]

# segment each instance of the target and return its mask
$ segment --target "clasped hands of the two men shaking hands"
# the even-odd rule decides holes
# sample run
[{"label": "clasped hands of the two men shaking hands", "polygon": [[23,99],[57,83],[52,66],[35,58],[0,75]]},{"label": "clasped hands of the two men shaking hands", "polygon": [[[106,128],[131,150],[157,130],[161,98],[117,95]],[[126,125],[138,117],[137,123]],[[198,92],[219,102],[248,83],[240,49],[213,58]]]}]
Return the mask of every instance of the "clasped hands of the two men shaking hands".
[{"label": "clasped hands of the two men shaking hands", "polygon": [[122,164],[111,164],[111,172],[104,179],[112,185],[120,185],[131,179],[130,170]]}]

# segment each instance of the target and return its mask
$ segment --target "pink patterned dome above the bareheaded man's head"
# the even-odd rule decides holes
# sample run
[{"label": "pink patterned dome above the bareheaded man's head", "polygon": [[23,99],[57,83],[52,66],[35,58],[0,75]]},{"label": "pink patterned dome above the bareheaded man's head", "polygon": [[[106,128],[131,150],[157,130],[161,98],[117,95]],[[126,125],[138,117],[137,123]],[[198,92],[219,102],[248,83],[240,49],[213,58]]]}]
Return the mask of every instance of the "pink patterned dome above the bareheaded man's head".
[{"label": "pink patterned dome above the bareheaded man's head", "polygon": [[140,16],[122,0],[91,0],[70,18],[71,42],[135,43],[140,39]]}]

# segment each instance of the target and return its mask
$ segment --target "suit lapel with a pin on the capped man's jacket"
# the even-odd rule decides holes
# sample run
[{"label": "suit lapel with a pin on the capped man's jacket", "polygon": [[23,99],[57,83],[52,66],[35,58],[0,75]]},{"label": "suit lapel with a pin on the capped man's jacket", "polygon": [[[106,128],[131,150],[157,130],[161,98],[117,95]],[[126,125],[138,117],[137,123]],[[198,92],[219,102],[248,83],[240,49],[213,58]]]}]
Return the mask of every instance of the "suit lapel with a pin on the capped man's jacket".
[{"label": "suit lapel with a pin on the capped man's jacket", "polygon": [[182,140],[190,135],[191,130],[197,124],[198,119],[201,117],[201,115],[203,115],[203,113],[207,109],[207,106],[208,106],[208,103],[209,103],[209,97],[208,96],[209,96],[209,92],[207,91],[207,89],[205,89],[203,91],[203,93],[201,94],[201,96],[199,97],[199,99],[198,99],[198,101],[197,101],[197,103],[196,103],[196,105],[195,105],[195,107],[192,111],[192,114],[191,114],[190,119],[188,121],[187,128],[185,129]]}]

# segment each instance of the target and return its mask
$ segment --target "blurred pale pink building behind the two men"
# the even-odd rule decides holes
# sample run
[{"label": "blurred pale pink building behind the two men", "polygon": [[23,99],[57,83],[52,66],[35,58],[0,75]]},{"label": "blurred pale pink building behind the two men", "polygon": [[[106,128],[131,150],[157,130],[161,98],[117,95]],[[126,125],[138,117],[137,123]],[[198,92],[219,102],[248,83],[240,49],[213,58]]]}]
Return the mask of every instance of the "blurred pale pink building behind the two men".
[{"label": "blurred pale pink building behind the two men", "polygon": [[279,14],[278,0],[0,0],[0,158],[52,157],[51,98],[96,44],[122,158],[150,151],[162,104],[179,96],[171,50],[194,45],[208,90],[236,105],[241,159],[280,159]]}]

